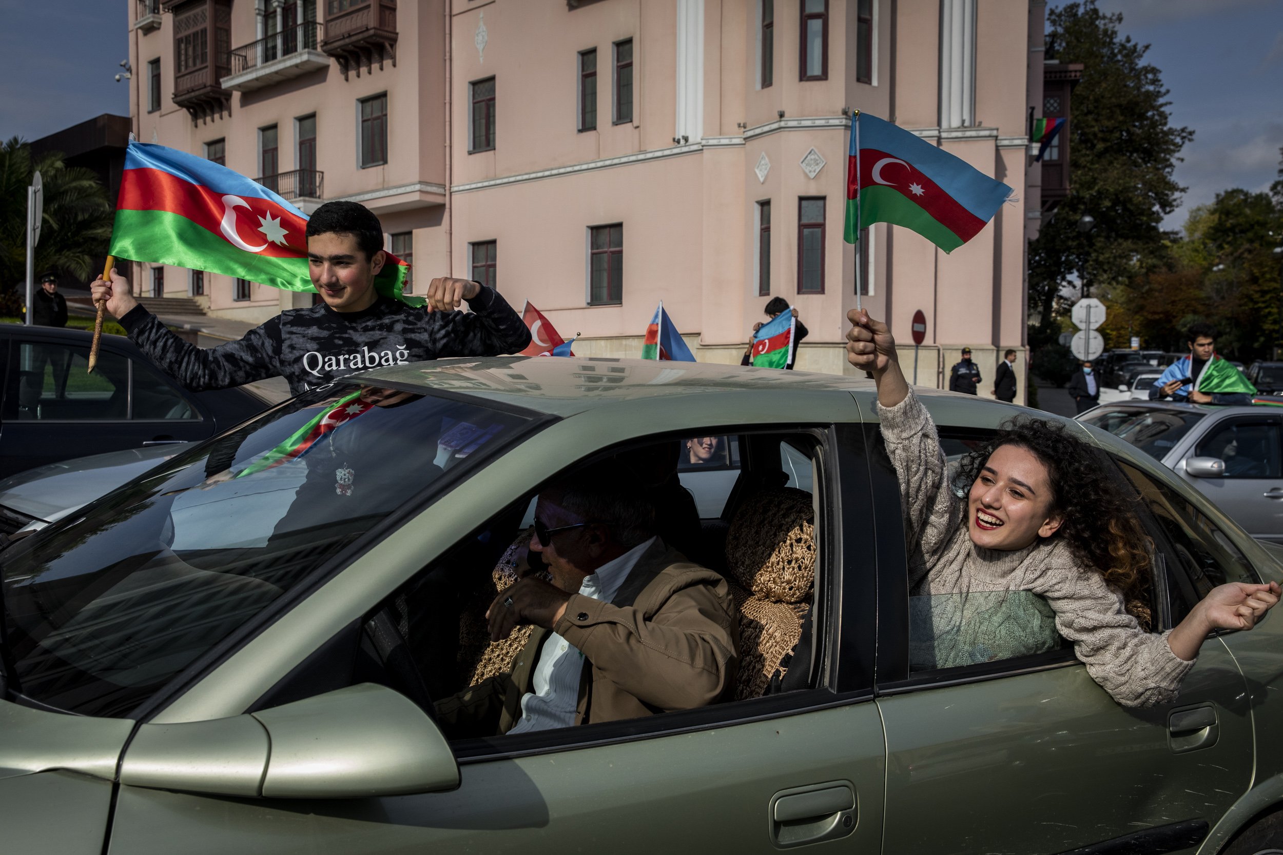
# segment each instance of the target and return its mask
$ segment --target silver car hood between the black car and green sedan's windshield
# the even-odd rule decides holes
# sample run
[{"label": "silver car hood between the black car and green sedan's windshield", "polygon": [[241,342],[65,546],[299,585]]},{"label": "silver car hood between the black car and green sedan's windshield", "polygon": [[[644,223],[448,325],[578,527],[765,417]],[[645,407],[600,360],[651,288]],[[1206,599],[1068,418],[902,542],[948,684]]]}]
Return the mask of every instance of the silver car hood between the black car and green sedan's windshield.
[{"label": "silver car hood between the black car and green sedan's windshield", "polygon": [[0,505],[51,523],[192,445],[109,451],[27,469],[0,481]]}]

